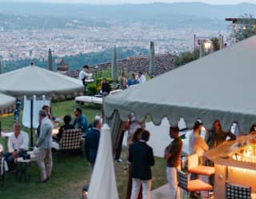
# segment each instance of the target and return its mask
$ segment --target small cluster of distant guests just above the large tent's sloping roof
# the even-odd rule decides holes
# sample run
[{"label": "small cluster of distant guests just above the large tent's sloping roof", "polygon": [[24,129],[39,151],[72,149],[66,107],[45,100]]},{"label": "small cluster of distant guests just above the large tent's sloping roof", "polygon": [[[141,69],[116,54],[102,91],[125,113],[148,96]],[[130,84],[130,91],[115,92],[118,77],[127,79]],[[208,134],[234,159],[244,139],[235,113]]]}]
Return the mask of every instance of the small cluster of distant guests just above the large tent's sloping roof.
[{"label": "small cluster of distant guests just above the large tent's sloping roof", "polygon": [[126,73],[123,71],[121,77],[119,78],[119,89],[125,90],[129,86],[134,86],[137,84],[145,83],[146,77],[142,74],[142,71],[138,71],[138,76],[135,74],[130,74],[130,78],[126,77]]}]

